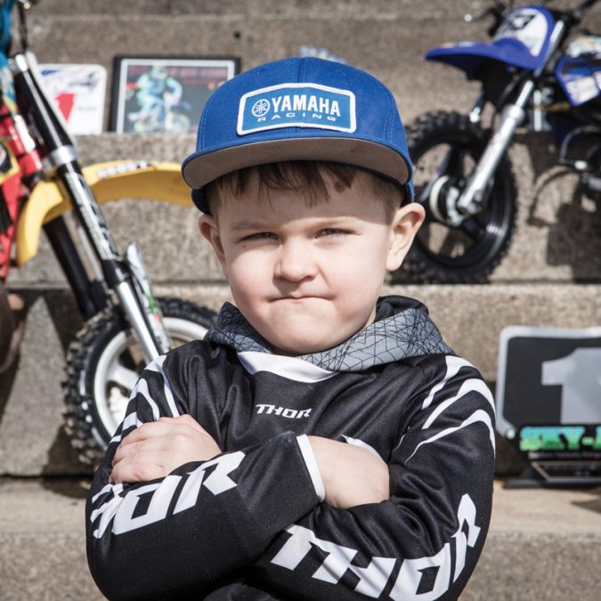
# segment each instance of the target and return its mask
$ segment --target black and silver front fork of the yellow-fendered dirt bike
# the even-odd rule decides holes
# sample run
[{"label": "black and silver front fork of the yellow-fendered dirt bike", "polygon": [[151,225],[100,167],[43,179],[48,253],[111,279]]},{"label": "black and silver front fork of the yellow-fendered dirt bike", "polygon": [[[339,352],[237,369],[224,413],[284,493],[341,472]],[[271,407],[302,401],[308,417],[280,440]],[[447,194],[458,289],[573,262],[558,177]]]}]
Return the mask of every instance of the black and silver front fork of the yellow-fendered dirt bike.
[{"label": "black and silver front fork of the yellow-fendered dirt bike", "polygon": [[[117,247],[104,221],[93,191],[85,181],[79,166],[77,150],[72,136],[69,134],[61,114],[45,91],[42,77],[33,53],[28,51],[16,53],[11,58],[12,76],[15,91],[23,114],[32,118],[39,138],[44,142],[46,158],[51,169],[48,174],[62,184],[65,194],[71,200],[77,219],[85,232],[87,247],[92,248],[91,263],[96,267],[98,280],[115,291],[119,304],[127,321],[139,340],[147,361],[156,359],[159,354],[166,353],[171,344],[162,321],[160,309],[150,290],[150,282],[146,276],[139,252],[134,248],[125,258],[119,256]],[[33,139],[31,142],[34,143]],[[68,235],[61,223],[59,229],[48,228],[53,236],[53,245],[62,256],[61,264],[66,267],[69,282],[76,284],[74,291],[85,296],[88,293],[85,312],[92,313],[94,308],[103,305],[108,290],[100,294],[89,294],[91,287],[86,283],[85,273],[79,262],[77,251],[72,244],[65,242]],[[64,227],[64,223],[62,224]],[[58,253],[57,253],[58,256]],[[70,259],[70,260],[69,260]],[[98,265],[102,267],[98,269]],[[76,265],[75,268],[74,265]],[[70,271],[70,273],[69,273]],[[79,299],[80,307],[84,299]]]}]

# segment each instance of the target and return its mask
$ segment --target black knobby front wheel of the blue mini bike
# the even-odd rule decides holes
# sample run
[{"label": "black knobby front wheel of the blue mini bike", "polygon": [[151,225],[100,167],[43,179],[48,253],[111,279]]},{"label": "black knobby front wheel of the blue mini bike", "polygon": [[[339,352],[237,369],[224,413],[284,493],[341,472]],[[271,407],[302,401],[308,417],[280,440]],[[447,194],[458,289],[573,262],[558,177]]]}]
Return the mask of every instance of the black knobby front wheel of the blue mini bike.
[{"label": "black knobby front wheel of the blue mini bike", "polygon": [[[405,272],[410,280],[422,283],[485,283],[507,254],[516,228],[516,179],[509,159],[501,159],[482,210],[459,226],[453,225],[444,214],[444,188],[439,187],[436,195],[432,192],[435,188],[430,188],[426,199],[423,192],[435,178],[437,182],[445,178],[452,188],[461,190],[482,156],[489,134],[467,115],[444,111],[428,112],[406,130],[414,164],[415,198],[426,208],[426,220],[402,271],[393,274],[393,282],[402,280]],[[443,158],[447,158],[447,165],[438,173]]]}]

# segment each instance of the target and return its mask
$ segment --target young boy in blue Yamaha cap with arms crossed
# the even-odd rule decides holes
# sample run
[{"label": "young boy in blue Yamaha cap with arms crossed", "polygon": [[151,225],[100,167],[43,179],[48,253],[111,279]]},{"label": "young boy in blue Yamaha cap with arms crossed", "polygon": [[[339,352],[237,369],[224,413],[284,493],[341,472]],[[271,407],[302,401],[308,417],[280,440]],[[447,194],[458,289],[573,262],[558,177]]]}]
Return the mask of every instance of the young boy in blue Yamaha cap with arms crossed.
[{"label": "young boy in blue Yamaha cap with arms crossed", "polygon": [[392,94],[288,59],[207,102],[183,176],[236,307],[153,361],[94,477],[110,598],[455,599],[493,403],[426,308],[378,299],[423,220]]}]

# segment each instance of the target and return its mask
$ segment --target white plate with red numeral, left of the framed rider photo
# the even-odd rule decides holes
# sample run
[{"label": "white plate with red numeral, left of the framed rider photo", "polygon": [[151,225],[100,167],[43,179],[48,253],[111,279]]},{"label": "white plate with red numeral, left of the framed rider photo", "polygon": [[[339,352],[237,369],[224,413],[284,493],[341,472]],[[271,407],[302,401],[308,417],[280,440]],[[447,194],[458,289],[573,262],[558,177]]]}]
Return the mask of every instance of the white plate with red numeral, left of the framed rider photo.
[{"label": "white plate with red numeral, left of the framed rider photo", "polygon": [[107,69],[93,64],[41,64],[39,69],[69,132],[102,134]]}]

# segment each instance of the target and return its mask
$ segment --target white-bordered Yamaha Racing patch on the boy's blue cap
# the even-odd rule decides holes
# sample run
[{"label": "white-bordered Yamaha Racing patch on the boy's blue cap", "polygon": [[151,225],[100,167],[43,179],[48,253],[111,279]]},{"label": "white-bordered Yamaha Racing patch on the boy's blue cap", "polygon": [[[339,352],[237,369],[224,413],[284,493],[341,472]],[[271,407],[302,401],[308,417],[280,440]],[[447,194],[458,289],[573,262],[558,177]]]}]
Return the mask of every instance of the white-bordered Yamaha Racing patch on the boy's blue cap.
[{"label": "white-bordered Yamaha Racing patch on the boy's blue cap", "polygon": [[240,99],[238,134],[280,127],[355,131],[354,94],[325,85],[282,84],[248,92]]}]

